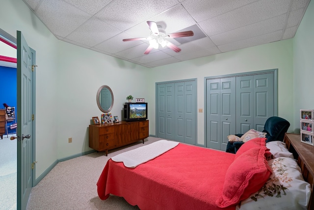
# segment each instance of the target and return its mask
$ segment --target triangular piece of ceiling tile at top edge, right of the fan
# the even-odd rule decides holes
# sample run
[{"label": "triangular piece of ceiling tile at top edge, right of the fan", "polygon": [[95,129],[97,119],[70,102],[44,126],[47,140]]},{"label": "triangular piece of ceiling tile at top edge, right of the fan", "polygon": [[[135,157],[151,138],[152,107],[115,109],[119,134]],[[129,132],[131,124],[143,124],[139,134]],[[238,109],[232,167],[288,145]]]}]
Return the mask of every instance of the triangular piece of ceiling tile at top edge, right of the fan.
[{"label": "triangular piece of ceiling tile at top edge, right of the fan", "polygon": [[182,4],[197,22],[201,22],[254,1],[256,0],[185,0]]}]

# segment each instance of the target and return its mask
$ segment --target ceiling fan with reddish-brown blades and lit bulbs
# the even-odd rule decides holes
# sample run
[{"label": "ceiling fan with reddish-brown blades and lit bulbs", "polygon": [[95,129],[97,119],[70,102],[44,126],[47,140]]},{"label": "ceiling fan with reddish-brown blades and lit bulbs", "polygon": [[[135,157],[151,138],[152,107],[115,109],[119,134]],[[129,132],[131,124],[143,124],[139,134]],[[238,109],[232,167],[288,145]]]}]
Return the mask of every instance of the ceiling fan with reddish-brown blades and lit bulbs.
[{"label": "ceiling fan with reddish-brown blades and lit bulbs", "polygon": [[178,53],[181,51],[181,49],[166,39],[178,38],[178,37],[184,37],[184,36],[193,36],[194,35],[192,30],[166,34],[163,30],[158,29],[158,26],[157,26],[156,22],[154,22],[154,21],[147,21],[147,25],[151,30],[150,36],[142,37],[142,38],[123,39],[122,41],[134,41],[134,40],[144,40],[144,39],[149,40],[149,46],[145,50],[144,54],[149,54],[153,48],[158,49],[159,44],[161,47],[167,46],[170,49],[172,49],[173,51]]}]

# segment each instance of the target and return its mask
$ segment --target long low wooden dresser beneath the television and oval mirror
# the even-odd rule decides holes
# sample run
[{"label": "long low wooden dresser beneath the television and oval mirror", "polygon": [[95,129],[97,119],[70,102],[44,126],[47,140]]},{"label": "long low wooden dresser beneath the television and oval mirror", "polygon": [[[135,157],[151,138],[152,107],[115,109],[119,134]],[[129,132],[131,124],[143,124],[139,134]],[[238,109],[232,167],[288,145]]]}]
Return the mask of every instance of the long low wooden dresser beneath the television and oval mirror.
[{"label": "long low wooden dresser beneath the television and oval mirror", "polygon": [[122,147],[148,137],[148,120],[120,121],[116,123],[89,125],[89,147],[106,151]]}]

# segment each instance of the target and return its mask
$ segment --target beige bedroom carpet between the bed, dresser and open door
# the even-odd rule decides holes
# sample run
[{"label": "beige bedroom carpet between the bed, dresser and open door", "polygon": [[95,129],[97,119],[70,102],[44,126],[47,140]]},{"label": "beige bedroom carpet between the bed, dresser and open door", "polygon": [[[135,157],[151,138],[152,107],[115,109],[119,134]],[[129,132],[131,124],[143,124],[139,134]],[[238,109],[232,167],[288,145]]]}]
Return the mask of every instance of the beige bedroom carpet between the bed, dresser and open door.
[{"label": "beige bedroom carpet between the bed, dresser and open door", "polygon": [[94,152],[59,162],[32,188],[27,210],[138,210],[123,198],[110,195],[101,200],[97,194],[97,181],[107,160],[121,152],[151,144],[160,138],[148,137],[123,148]]}]

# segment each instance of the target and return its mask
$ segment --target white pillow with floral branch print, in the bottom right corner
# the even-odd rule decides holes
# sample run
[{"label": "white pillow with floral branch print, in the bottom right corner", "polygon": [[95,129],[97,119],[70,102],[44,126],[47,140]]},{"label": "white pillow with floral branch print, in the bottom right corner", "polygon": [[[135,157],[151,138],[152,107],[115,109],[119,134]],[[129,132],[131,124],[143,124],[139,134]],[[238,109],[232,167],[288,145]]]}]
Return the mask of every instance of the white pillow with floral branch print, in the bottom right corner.
[{"label": "white pillow with floral branch print, in the bottom right corner", "polygon": [[[268,165],[273,174],[260,191],[241,201],[236,210],[307,210],[311,186],[303,180],[296,161],[289,157],[278,157],[269,160]],[[277,192],[272,191],[275,189],[274,184],[280,189],[279,196]],[[281,188],[281,185],[284,188]],[[273,196],[268,196],[264,192]]]}]

